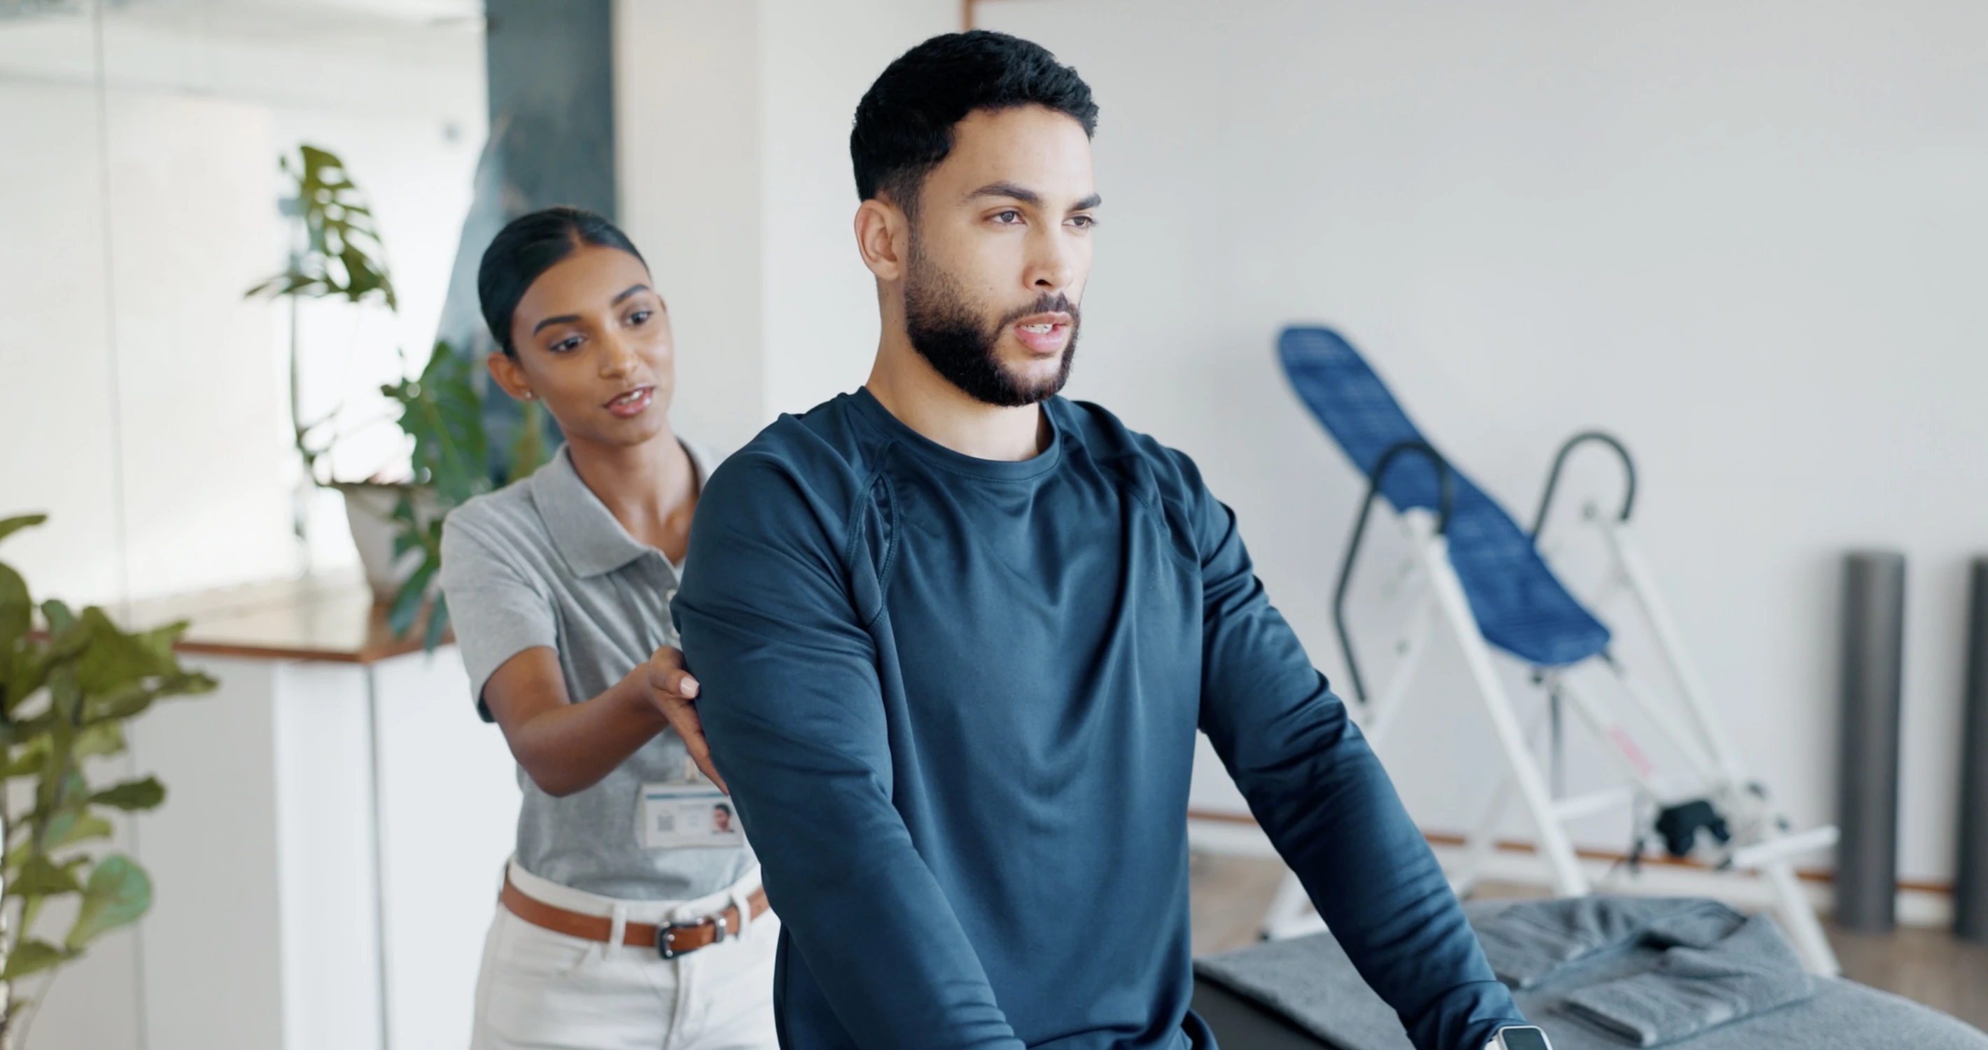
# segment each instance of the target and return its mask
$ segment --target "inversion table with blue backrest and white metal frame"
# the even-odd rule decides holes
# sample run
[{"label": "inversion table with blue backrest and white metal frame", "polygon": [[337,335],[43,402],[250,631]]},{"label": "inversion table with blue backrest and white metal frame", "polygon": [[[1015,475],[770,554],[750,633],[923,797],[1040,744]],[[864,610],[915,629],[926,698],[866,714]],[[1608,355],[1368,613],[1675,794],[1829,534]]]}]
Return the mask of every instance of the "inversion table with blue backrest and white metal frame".
[{"label": "inversion table with blue backrest and white metal frame", "polygon": [[[1555,457],[1531,533],[1457,471],[1402,412],[1380,376],[1338,332],[1330,328],[1286,328],[1278,356],[1292,388],[1320,424],[1338,439],[1346,455],[1370,479],[1360,519],[1354,525],[1346,561],[1334,593],[1334,618],[1368,740],[1382,746],[1390,738],[1409,682],[1431,644],[1437,622],[1463,654],[1465,668],[1491,720],[1505,770],[1489,805],[1465,841],[1461,869],[1451,875],[1457,893],[1467,893],[1483,875],[1493,847],[1493,831],[1517,791],[1539,835],[1551,885],[1563,897],[1586,895],[1592,887],[1567,835],[1576,817],[1636,807],[1638,841],[1660,833],[1674,853],[1698,847],[1710,853],[1718,873],[1757,873],[1769,885],[1775,913],[1803,962],[1823,974],[1839,972],[1835,953],[1823,937],[1815,909],[1795,877],[1791,857],[1835,843],[1835,827],[1787,833],[1787,821],[1767,809],[1765,789],[1749,780],[1720,724],[1698,668],[1686,656],[1682,636],[1658,599],[1652,575],[1630,535],[1628,517],[1636,497],[1634,463],[1620,441],[1606,434],[1578,434]],[[1608,628],[1588,612],[1555,577],[1537,549],[1537,533],[1547,521],[1561,469],[1584,443],[1612,447],[1628,477],[1622,507],[1614,515],[1592,503],[1584,517],[1606,543],[1610,585],[1630,593],[1668,664],[1672,694],[1658,694],[1632,676],[1610,652]],[[1374,501],[1386,497],[1400,515],[1411,547],[1413,571],[1425,593],[1409,612],[1400,640],[1402,658],[1380,696],[1368,700],[1358,656],[1346,630],[1346,593],[1360,553]],[[1549,786],[1533,756],[1511,694],[1499,676],[1493,648],[1521,660],[1549,698],[1555,748],[1559,750],[1561,706],[1567,702],[1602,744],[1622,782],[1598,791],[1563,797]],[[1612,702],[1614,700],[1614,702]],[[1664,736],[1686,766],[1682,778],[1666,778],[1616,718],[1616,702],[1626,704]],[[1646,813],[1658,819],[1646,821]],[[1708,831],[1708,835],[1700,835]],[[1286,873],[1270,913],[1266,937],[1308,933],[1320,927],[1306,913],[1304,887]]]}]

